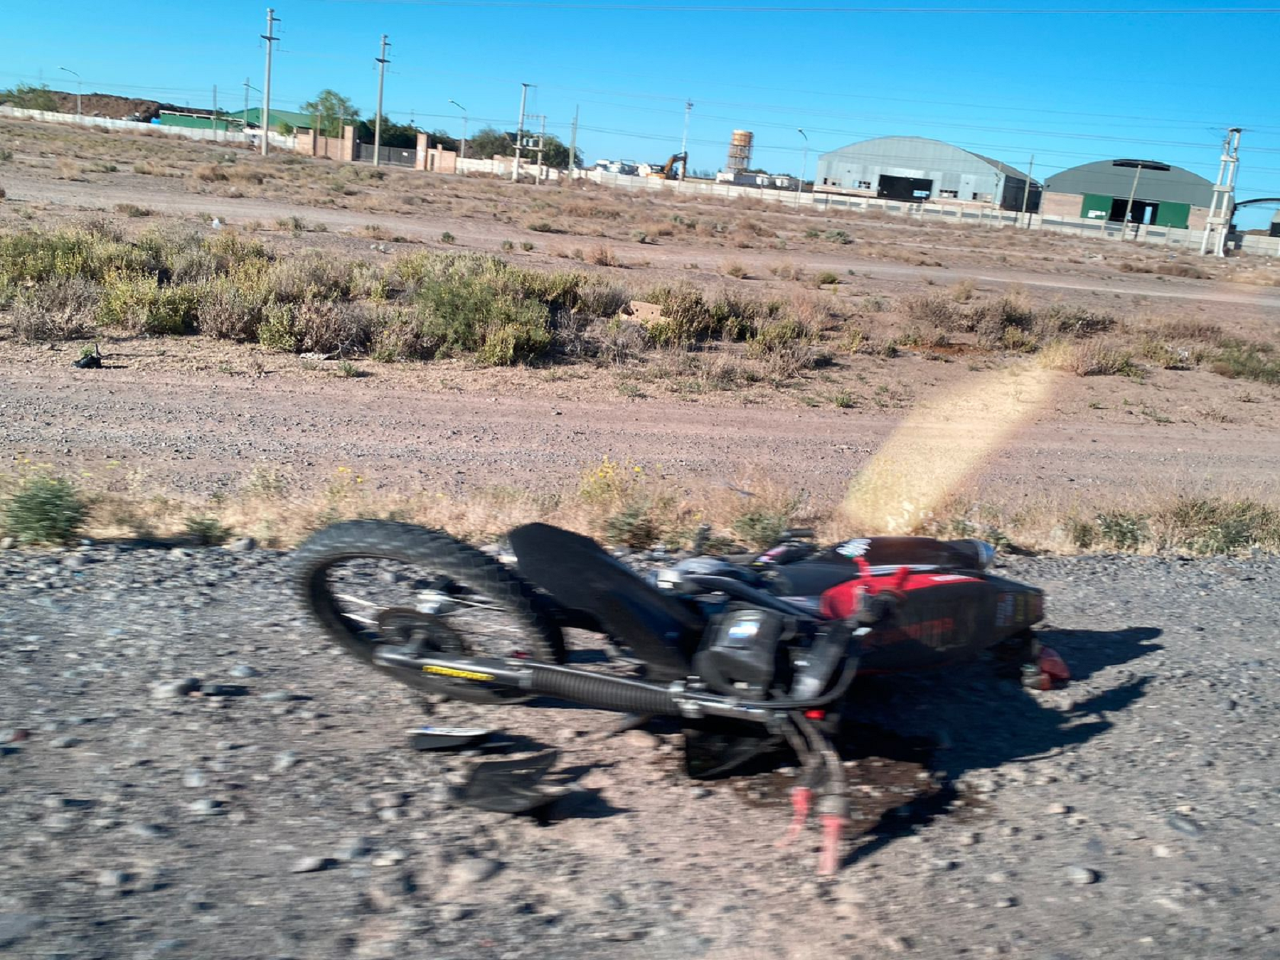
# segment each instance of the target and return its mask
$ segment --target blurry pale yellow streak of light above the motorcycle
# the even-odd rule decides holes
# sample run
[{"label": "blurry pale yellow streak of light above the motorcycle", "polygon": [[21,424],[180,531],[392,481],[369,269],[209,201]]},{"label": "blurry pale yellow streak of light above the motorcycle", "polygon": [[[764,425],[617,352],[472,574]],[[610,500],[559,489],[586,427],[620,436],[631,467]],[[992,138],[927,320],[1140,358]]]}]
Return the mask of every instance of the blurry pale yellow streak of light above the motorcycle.
[{"label": "blurry pale yellow streak of light above the motorcycle", "polygon": [[1044,408],[1060,376],[998,370],[920,403],[854,477],[845,516],[868,532],[916,529]]}]

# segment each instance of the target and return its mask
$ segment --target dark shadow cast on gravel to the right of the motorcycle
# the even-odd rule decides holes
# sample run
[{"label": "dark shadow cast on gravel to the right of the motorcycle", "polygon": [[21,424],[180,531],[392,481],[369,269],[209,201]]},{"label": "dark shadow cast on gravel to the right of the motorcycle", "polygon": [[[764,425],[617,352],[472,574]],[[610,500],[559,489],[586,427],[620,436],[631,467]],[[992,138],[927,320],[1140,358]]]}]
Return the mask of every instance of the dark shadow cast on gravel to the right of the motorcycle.
[{"label": "dark shadow cast on gravel to the right of the motorcycle", "polygon": [[[1162,649],[1153,643],[1161,635],[1155,627],[1047,628],[1038,635],[1070,664],[1073,684]],[[1071,696],[1069,684],[1065,705],[1061,694],[1032,692],[995,677],[986,662],[945,675],[860,681],[852,694],[856,722],[846,724],[838,744],[841,756],[852,762],[855,845],[845,864],[942,817],[980,826],[997,801],[961,791],[960,781],[980,781],[982,771],[1033,763],[1107,732],[1114,726],[1107,714],[1140,700],[1151,677],[1121,671],[1120,681],[1082,699]]]}]

